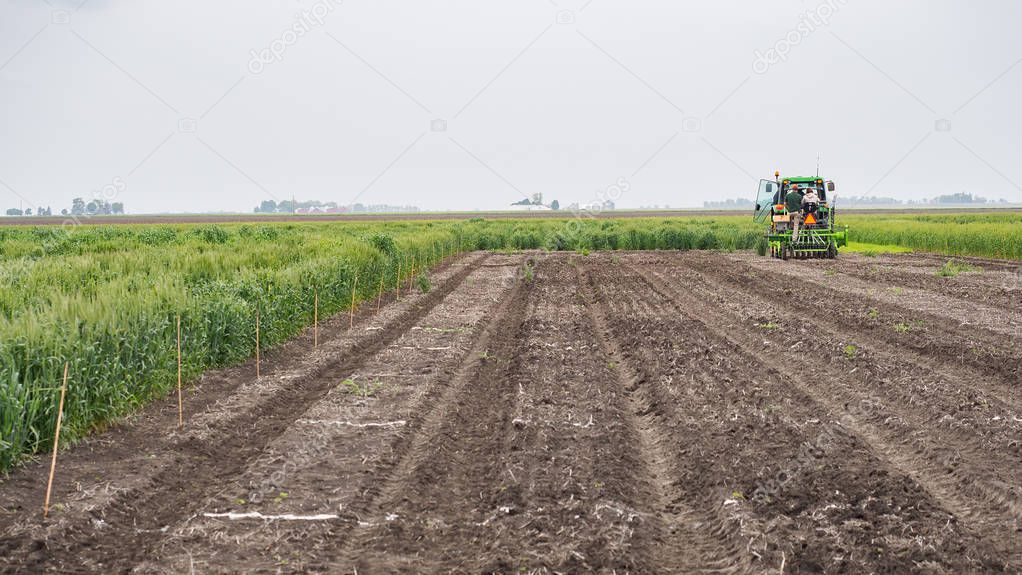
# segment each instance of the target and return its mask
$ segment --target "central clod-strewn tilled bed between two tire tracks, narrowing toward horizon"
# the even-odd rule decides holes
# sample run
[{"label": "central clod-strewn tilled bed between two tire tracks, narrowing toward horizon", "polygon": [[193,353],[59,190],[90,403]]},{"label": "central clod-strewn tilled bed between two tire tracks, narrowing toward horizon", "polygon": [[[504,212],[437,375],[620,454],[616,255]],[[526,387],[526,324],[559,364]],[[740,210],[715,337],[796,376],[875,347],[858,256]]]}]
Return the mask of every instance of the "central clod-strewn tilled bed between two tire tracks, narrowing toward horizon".
[{"label": "central clod-strewn tilled bed between two tire tracks, narrowing toward horizon", "polygon": [[664,529],[650,502],[655,484],[569,259],[543,256],[515,342],[501,496],[479,527],[507,550],[486,569],[664,571],[675,562],[658,559]]}]

